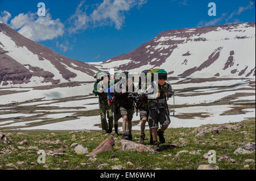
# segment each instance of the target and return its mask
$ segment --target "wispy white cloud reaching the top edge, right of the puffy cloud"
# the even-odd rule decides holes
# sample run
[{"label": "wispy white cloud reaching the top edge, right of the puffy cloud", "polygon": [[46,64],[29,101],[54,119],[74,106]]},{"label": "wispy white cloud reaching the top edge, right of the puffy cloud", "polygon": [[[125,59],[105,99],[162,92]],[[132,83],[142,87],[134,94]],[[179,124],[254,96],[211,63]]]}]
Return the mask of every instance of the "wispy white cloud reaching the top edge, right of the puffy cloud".
[{"label": "wispy white cloud reaching the top edge, right of the puffy cloud", "polygon": [[147,0],[104,0],[100,5],[94,5],[91,14],[86,14],[85,1],[81,1],[76,12],[68,19],[68,23],[73,24],[68,32],[76,33],[88,27],[115,25],[117,30],[123,25],[125,12],[137,6],[138,9]]}]

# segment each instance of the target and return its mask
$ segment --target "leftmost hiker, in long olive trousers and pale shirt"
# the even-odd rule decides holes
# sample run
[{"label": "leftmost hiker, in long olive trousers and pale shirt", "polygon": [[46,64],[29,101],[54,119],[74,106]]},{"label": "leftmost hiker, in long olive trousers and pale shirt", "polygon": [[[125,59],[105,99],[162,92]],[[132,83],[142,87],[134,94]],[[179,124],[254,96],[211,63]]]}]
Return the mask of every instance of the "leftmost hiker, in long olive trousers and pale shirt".
[{"label": "leftmost hiker, in long olive trousers and pale shirt", "polygon": [[[113,108],[108,103],[108,95],[105,92],[108,89],[110,80],[109,73],[107,71],[101,71],[97,74],[97,81],[94,83],[93,93],[98,95],[100,114],[101,114],[101,128],[102,133],[112,133],[113,129]],[[98,83],[97,83],[98,82]],[[108,122],[106,121],[106,114]]]}]

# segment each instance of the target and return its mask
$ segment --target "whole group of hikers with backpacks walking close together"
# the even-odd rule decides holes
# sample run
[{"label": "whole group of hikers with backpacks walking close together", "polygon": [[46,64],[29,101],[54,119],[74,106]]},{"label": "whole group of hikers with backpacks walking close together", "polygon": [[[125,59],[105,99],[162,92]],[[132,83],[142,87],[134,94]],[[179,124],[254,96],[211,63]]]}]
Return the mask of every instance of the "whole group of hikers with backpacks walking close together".
[{"label": "whole group of hikers with backpacks walking close together", "polygon": [[160,144],[166,142],[164,131],[171,123],[167,100],[174,95],[174,91],[167,81],[167,72],[163,69],[144,70],[139,75],[137,87],[134,86],[133,74],[128,71],[114,75],[110,75],[108,71],[100,71],[95,78],[93,93],[99,98],[102,132],[112,133],[114,122],[115,136],[119,136],[118,120],[122,117],[122,139],[133,140],[133,114],[135,110],[137,113],[139,111],[139,142],[145,143],[144,131],[148,122],[150,144],[158,151],[158,137]]}]

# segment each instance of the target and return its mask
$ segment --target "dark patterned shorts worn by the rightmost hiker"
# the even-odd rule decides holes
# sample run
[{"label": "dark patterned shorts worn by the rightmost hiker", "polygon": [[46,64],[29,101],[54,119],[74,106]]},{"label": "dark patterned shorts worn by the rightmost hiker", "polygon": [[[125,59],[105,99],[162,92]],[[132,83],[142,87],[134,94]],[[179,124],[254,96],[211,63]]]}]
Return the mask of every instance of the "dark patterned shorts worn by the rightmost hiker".
[{"label": "dark patterned shorts worn by the rightmost hiker", "polygon": [[170,125],[170,115],[165,108],[159,109],[159,113],[155,109],[150,109],[148,116],[148,125],[150,128],[158,128],[158,124],[161,126]]}]

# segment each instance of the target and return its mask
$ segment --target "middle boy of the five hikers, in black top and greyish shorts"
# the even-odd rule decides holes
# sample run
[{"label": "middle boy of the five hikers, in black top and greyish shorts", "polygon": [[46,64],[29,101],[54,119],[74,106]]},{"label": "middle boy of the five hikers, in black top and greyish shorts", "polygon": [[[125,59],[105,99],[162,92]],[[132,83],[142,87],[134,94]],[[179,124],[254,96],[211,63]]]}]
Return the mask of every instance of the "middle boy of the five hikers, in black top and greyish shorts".
[{"label": "middle boy of the five hikers, in black top and greyish shorts", "polygon": [[[133,75],[127,71],[123,72],[123,78],[115,85],[114,102],[115,106],[119,109],[123,118],[122,128],[124,140],[133,140],[131,134],[131,120],[133,119],[133,106],[134,100],[132,94],[135,90],[133,85]],[[126,132],[126,123],[128,123],[128,133]]]}]

